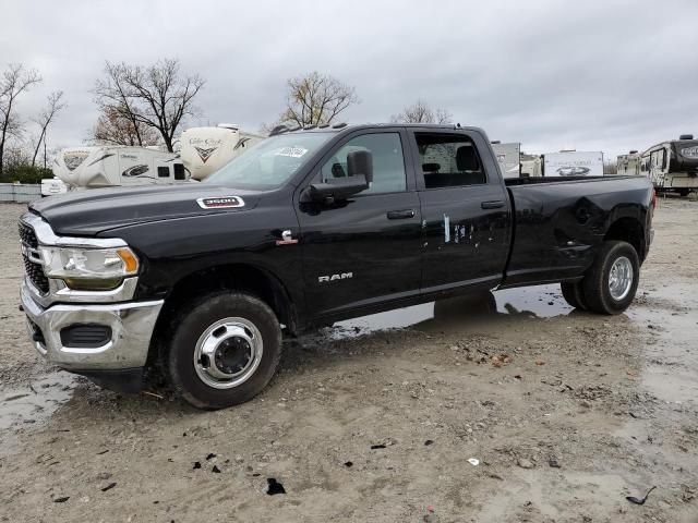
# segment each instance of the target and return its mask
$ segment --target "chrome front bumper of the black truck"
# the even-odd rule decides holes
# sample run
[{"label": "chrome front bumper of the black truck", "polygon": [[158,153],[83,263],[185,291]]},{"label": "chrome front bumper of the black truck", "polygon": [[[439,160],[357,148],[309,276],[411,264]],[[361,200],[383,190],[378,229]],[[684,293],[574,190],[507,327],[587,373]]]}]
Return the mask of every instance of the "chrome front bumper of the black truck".
[{"label": "chrome front bumper of the black truck", "polygon": [[[56,304],[43,307],[26,281],[22,282],[22,306],[35,349],[48,362],[67,370],[121,370],[145,365],[155,321],[163,300],[111,304]],[[111,329],[111,339],[100,346],[63,346],[60,332],[75,324]],[[38,331],[37,331],[38,329]]]}]

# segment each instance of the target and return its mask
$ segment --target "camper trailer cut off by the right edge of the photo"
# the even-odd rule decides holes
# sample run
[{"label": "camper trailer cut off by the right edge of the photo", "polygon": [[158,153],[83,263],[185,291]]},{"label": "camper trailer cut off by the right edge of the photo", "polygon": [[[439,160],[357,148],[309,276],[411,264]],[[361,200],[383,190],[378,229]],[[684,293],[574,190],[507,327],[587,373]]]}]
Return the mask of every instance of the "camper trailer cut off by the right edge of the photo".
[{"label": "camper trailer cut off by the right edge of the photo", "polygon": [[640,174],[648,177],[658,192],[687,196],[698,191],[698,139],[683,134],[678,139],[648,148],[640,156]]}]

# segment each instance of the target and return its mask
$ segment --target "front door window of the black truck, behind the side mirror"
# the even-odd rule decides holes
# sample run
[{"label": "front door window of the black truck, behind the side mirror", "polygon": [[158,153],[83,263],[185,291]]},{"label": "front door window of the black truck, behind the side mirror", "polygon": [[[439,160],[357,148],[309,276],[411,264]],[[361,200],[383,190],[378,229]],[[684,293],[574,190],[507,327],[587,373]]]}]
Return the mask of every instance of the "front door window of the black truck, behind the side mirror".
[{"label": "front door window of the black truck, behind the side mirror", "polygon": [[350,139],[322,167],[322,181],[348,175],[347,155],[354,150],[369,150],[373,157],[373,183],[361,194],[407,190],[402,143],[398,133],[363,134]]}]

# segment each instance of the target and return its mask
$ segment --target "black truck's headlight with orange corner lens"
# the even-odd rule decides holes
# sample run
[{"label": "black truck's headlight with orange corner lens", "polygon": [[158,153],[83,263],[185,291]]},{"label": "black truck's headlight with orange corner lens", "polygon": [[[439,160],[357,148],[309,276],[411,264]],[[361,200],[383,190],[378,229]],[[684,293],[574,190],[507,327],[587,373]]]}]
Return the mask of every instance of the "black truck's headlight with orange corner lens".
[{"label": "black truck's headlight with orange corner lens", "polygon": [[40,251],[46,276],[60,278],[74,290],[116,289],[124,277],[139,272],[139,258],[129,247],[41,246]]}]

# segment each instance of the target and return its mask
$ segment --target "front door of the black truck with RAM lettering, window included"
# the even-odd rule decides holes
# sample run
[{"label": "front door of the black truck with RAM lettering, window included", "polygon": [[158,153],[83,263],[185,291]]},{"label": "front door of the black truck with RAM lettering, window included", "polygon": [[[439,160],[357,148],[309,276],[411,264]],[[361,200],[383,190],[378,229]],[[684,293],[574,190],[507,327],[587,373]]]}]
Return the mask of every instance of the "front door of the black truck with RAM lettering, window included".
[{"label": "front door of the black truck with RAM lettering, window included", "polygon": [[347,175],[347,155],[370,150],[370,188],[335,204],[300,203],[296,195],[303,279],[310,314],[348,311],[419,294],[421,215],[414,172],[405,161],[407,134],[400,127],[358,131],[318,163],[312,181]]}]

